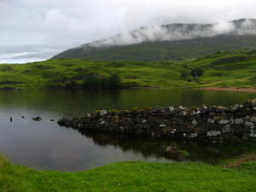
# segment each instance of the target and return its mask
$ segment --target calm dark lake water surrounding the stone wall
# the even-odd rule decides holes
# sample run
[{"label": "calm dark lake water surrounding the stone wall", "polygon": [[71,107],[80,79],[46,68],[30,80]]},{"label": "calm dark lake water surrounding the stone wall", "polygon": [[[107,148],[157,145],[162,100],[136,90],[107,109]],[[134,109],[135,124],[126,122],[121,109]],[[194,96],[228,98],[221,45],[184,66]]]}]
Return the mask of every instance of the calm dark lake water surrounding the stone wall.
[{"label": "calm dark lake water surrounding the stone wall", "polygon": [[[188,160],[215,162],[226,154],[202,143],[83,135],[49,119],[78,116],[95,109],[227,106],[253,98],[255,93],[215,90],[2,90],[0,153],[15,163],[38,169],[79,171],[124,160],[172,162],[163,156],[162,150],[175,143],[178,148],[189,151]],[[31,118],[37,116],[43,120],[32,121]]]}]

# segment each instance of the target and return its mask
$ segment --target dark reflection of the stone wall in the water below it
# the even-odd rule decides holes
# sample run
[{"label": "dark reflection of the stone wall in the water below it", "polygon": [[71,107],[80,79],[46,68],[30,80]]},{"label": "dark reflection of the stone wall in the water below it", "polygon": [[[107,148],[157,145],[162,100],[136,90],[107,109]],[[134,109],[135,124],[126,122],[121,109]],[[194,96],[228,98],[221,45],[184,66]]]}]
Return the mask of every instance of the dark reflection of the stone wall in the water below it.
[{"label": "dark reflection of the stone wall in the water below it", "polygon": [[168,138],[119,137],[100,133],[82,134],[85,137],[92,138],[94,143],[102,148],[108,146],[121,148],[123,152],[132,151],[133,153],[143,154],[143,158],[145,159],[152,156],[166,158],[166,160],[169,159],[164,155],[164,151],[170,145],[189,152],[189,156],[185,160],[176,159],[175,161],[203,161],[216,164],[219,160],[230,158],[234,155],[221,151],[218,145],[207,143],[177,141]]}]

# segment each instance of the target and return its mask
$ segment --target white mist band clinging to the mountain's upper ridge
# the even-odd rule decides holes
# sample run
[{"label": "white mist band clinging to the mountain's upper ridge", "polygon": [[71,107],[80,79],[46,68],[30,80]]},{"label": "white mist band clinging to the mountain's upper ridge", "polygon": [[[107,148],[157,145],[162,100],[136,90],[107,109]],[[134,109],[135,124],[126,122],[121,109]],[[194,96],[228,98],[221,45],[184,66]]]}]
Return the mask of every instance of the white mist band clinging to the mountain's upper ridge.
[{"label": "white mist band clinging to the mountain's upper ridge", "polygon": [[98,48],[113,45],[141,44],[143,42],[177,41],[193,38],[210,38],[223,34],[255,35],[256,21],[246,19],[216,22],[214,24],[147,26],[134,31],[124,32],[112,38],[94,41],[90,43],[90,46]]}]

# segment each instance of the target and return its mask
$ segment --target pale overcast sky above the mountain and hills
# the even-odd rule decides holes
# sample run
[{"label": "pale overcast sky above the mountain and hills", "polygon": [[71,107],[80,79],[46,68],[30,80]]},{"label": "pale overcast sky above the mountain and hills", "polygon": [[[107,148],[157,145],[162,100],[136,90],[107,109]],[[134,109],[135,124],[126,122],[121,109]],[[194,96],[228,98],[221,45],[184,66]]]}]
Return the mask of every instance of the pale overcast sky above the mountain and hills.
[{"label": "pale overcast sky above the mountain and hills", "polygon": [[0,0],[0,63],[41,61],[140,26],[256,18],[255,0]]}]

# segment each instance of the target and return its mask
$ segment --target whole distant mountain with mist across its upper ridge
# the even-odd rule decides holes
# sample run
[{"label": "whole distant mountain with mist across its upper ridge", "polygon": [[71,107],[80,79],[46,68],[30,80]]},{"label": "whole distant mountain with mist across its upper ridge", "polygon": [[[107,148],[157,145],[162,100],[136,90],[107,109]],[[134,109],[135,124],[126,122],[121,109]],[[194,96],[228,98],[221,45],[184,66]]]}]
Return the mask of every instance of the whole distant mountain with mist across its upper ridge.
[{"label": "whole distant mountain with mist across its upper ridge", "polygon": [[67,49],[52,59],[168,61],[226,49],[256,49],[256,20],[141,27]]}]

